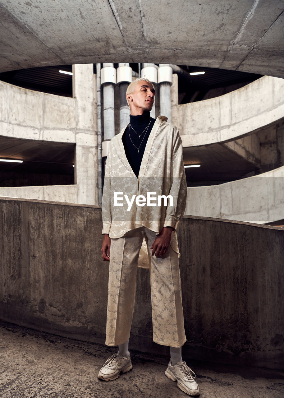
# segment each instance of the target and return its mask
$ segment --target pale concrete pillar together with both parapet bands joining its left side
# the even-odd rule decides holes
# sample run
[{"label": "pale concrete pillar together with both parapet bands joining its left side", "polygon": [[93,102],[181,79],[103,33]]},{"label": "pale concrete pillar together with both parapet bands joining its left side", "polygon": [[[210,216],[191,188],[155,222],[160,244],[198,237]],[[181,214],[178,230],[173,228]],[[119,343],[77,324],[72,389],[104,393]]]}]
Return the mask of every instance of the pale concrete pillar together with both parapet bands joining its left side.
[{"label": "pale concrete pillar together with both parapet bands joining its left side", "polygon": [[[97,104],[93,64],[73,66],[74,96],[27,90],[0,81],[0,135],[76,143],[75,184],[0,188],[0,195],[97,204]],[[56,199],[49,196],[55,192]],[[47,196],[43,196],[47,193]],[[68,196],[69,193],[72,196]],[[53,195],[53,193],[52,193]],[[74,197],[75,195],[75,197]]]}]

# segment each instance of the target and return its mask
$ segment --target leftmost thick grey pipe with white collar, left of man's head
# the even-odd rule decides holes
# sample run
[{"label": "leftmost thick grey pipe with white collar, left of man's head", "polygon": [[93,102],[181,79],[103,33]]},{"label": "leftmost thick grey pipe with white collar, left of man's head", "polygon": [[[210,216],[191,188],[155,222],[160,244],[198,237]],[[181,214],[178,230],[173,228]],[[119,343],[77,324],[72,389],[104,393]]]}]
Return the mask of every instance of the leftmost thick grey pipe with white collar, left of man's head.
[{"label": "leftmost thick grey pipe with white collar, left of man's head", "polygon": [[101,69],[103,85],[103,136],[111,140],[115,136],[115,84],[116,70],[113,64],[103,64]]}]

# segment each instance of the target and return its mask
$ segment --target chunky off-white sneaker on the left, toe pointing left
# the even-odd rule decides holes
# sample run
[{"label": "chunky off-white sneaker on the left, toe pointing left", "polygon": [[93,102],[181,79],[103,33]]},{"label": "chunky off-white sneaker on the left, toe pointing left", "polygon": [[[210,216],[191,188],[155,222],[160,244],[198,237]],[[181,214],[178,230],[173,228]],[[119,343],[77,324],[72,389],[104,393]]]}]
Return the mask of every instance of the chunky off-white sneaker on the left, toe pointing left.
[{"label": "chunky off-white sneaker on the left, toe pointing left", "polygon": [[111,357],[109,357],[105,361],[97,377],[105,381],[115,380],[116,378],[119,377],[121,372],[126,373],[131,369],[132,369],[132,363],[130,355],[129,358],[127,358],[127,357],[122,357],[117,353],[111,355]]}]

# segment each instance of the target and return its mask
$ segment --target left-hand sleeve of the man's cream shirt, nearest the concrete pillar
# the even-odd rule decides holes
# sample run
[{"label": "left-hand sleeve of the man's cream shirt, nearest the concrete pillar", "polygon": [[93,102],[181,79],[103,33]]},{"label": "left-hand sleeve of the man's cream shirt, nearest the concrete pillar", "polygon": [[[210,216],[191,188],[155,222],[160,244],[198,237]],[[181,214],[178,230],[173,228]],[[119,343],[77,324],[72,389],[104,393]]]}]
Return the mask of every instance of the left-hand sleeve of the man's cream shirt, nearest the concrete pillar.
[{"label": "left-hand sleeve of the man's cream shirt, nearest the concrete pillar", "polygon": [[103,217],[102,234],[109,234],[111,229],[111,145],[105,162],[105,180],[103,183],[103,196],[101,199],[101,211]]}]

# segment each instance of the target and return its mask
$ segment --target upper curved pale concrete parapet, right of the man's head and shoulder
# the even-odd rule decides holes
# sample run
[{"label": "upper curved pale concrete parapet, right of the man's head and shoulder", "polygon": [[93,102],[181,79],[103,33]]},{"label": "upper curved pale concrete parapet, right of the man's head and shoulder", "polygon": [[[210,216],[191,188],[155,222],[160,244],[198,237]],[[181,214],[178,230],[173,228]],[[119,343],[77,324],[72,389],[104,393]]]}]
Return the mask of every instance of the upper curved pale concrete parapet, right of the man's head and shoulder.
[{"label": "upper curved pale concrete parapet, right of the man's head and shoulder", "polygon": [[184,147],[241,138],[283,116],[284,80],[270,76],[220,97],[172,103],[172,123],[179,128]]}]

